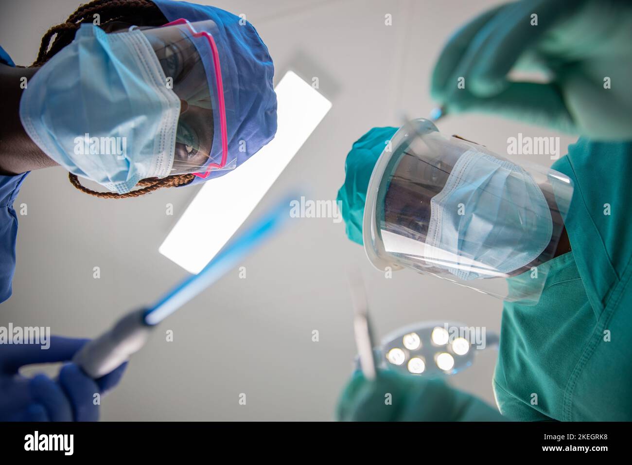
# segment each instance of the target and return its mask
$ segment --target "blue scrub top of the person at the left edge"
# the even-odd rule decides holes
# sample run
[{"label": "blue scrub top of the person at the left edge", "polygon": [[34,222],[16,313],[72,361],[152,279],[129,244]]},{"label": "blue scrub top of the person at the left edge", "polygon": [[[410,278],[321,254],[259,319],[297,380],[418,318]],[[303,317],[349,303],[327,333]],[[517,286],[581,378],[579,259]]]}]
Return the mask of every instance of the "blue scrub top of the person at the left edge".
[{"label": "blue scrub top of the person at the left edge", "polygon": [[[2,47],[0,62],[15,66]],[[16,176],[0,175],[0,302],[11,297],[11,282],[15,271],[15,240],[18,235],[18,217],[13,209],[13,201],[29,172]]]}]

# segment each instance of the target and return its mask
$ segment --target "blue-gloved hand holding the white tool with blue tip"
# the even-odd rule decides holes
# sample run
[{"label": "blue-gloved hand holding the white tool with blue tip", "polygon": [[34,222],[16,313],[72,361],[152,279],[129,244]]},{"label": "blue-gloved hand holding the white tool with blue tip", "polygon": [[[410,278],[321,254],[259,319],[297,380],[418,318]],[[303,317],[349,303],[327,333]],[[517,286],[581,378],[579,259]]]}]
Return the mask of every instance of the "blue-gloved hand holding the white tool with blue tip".
[{"label": "blue-gloved hand holding the white tool with blue tip", "polygon": [[93,380],[74,363],[61,368],[56,380],[40,374],[27,378],[21,366],[72,359],[88,339],[52,336],[49,349],[37,344],[0,345],[0,421],[97,421],[94,394],[115,387],[127,363]]}]

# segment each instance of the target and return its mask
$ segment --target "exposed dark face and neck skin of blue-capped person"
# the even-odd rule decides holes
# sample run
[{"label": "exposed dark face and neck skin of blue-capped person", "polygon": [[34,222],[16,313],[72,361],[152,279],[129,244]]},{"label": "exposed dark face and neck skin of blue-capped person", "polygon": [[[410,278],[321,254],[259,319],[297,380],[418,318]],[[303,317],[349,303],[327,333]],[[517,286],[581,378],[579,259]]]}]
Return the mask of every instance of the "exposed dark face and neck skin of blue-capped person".
[{"label": "exposed dark face and neck skin of blue-capped person", "polygon": [[[130,26],[130,23],[114,22],[102,28],[109,33]],[[191,90],[191,83],[202,82],[196,75],[200,73],[201,65],[193,63],[192,44],[188,40],[177,42],[176,46],[170,47],[168,53],[164,46],[161,47],[163,51],[161,65],[167,76],[173,74],[174,92],[181,97],[173,171],[174,173],[195,172],[196,166],[202,166],[205,163],[212,147],[212,109],[210,97],[204,95],[204,89],[197,92],[196,89]],[[188,61],[184,59],[187,57]],[[167,58],[166,61],[165,58]],[[165,69],[167,66],[165,63],[169,66],[167,69]],[[25,68],[0,64],[0,99],[3,102],[0,109],[3,116],[3,124],[0,125],[1,175],[17,175],[57,165],[28,137],[20,121],[20,98],[23,92],[21,79],[27,78],[28,83],[37,70],[39,70],[37,66]],[[170,74],[167,74],[167,71]],[[208,93],[206,89],[206,94]],[[183,99],[191,95],[195,97],[191,103]]]}]

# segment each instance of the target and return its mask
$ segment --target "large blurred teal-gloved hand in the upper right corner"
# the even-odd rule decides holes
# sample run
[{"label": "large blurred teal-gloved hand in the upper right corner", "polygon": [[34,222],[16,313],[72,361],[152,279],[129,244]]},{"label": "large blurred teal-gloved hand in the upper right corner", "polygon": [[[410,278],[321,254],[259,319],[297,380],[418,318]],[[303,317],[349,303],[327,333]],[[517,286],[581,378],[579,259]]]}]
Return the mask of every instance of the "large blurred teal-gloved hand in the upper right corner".
[{"label": "large blurred teal-gloved hand in the upper right corner", "polygon": [[[531,15],[538,25],[531,25]],[[523,0],[494,8],[449,39],[430,94],[447,113],[482,111],[592,139],[632,136],[632,4]],[[548,84],[513,82],[540,70]],[[458,89],[458,78],[465,89]],[[604,78],[611,89],[604,89]]]}]

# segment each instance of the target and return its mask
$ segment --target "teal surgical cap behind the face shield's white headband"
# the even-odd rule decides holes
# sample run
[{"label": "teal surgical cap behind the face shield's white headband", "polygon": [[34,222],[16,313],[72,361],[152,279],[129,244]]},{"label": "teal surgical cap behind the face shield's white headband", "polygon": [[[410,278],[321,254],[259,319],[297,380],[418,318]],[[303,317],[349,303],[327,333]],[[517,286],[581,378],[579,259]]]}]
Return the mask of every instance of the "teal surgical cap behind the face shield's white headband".
[{"label": "teal surgical cap behind the face shield's white headband", "polygon": [[367,201],[368,181],[386,148],[386,144],[398,128],[373,128],[356,140],[344,163],[344,184],[338,190],[347,237],[362,245],[362,216]]}]

